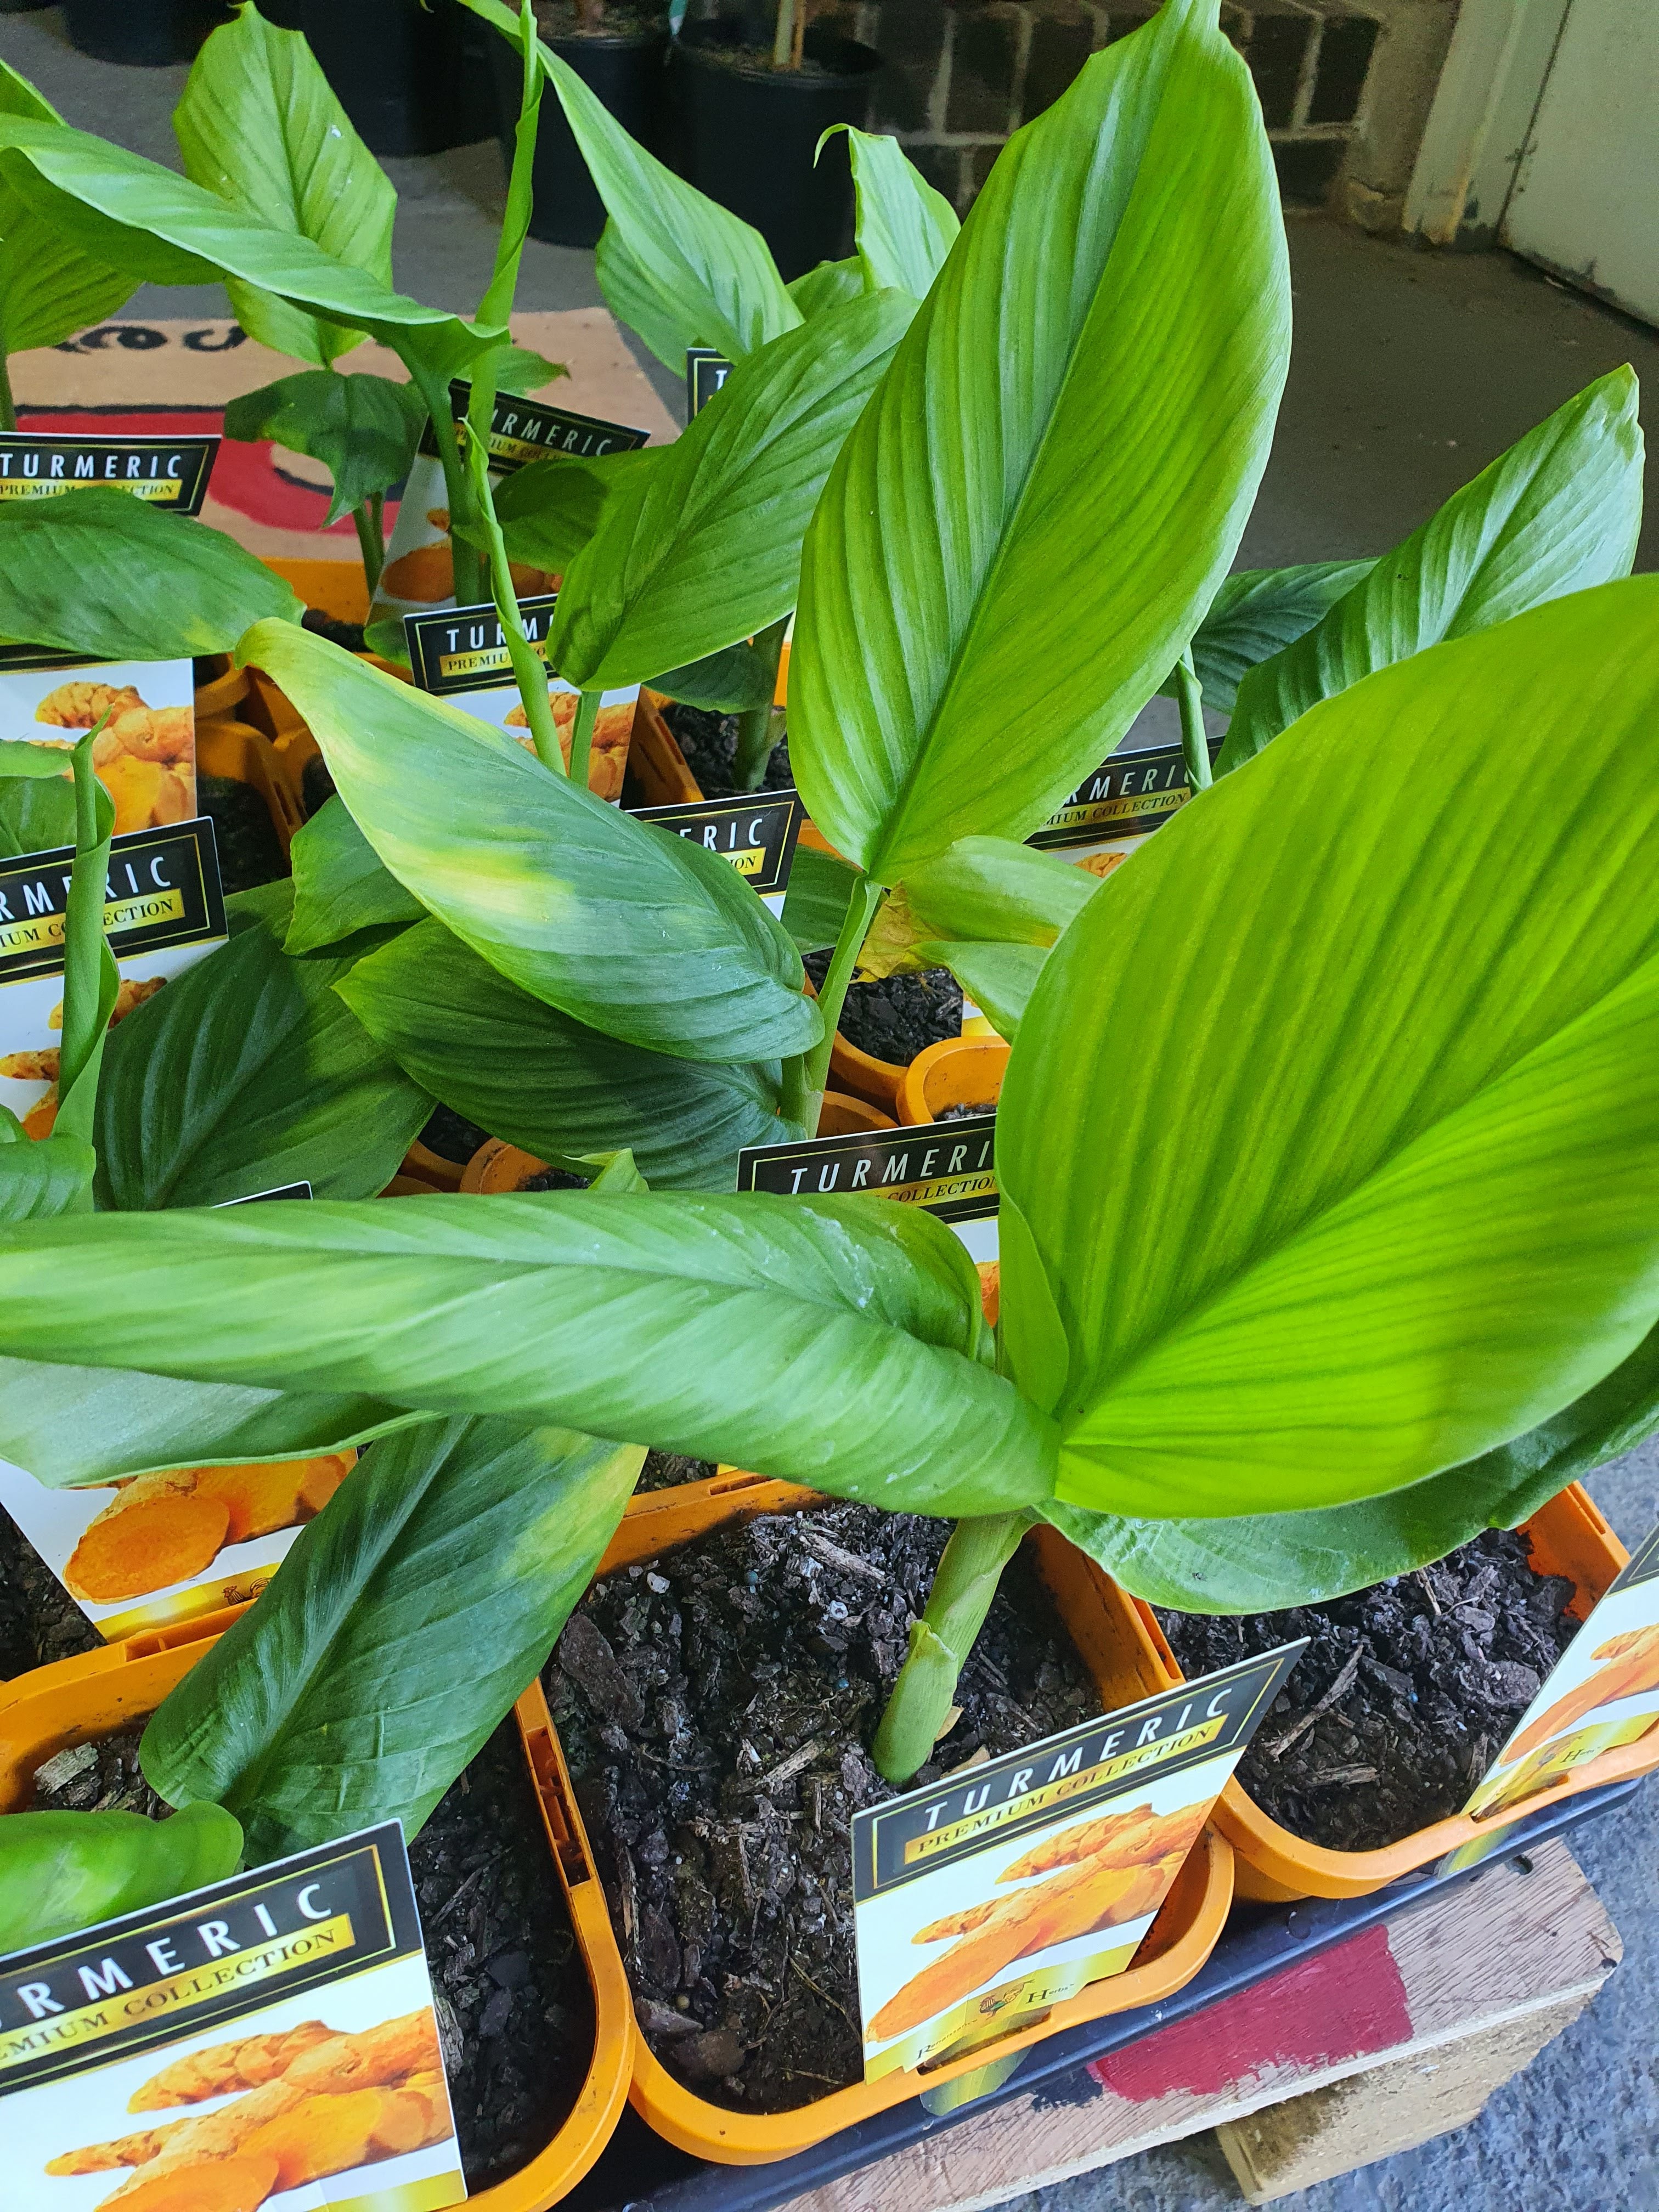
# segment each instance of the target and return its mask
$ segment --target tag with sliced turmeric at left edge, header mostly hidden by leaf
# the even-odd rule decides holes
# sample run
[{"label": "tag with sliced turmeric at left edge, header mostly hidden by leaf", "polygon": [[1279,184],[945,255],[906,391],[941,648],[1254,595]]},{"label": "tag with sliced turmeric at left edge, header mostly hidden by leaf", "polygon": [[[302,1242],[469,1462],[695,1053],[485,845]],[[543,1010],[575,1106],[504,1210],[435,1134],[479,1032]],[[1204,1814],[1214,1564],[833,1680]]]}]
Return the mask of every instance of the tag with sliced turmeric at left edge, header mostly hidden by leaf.
[{"label": "tag with sliced turmeric at left edge, header mostly hidden by leaf", "polygon": [[[310,1199],[310,1183],[223,1206]],[[259,1467],[186,1467],[49,1489],[0,1460],[0,1506],[106,1644],[259,1597],[347,1473],[356,1451]]]}]

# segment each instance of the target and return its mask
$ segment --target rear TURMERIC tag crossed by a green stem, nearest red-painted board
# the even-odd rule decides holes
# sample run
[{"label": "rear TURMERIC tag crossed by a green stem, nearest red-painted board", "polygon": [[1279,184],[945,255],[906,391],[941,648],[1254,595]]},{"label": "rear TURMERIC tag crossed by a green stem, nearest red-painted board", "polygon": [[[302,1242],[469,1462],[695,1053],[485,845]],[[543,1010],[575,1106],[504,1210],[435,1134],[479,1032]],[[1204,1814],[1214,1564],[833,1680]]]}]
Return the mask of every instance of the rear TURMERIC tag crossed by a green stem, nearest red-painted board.
[{"label": "rear TURMERIC tag crossed by a green stem, nearest red-painted board", "polygon": [[[471,387],[453,383],[449,400],[456,420],[467,416]],[[489,478],[500,484],[504,476],[522,469],[529,460],[549,460],[568,453],[577,460],[595,460],[599,453],[633,453],[650,440],[648,429],[633,429],[626,422],[602,422],[597,416],[571,414],[568,407],[549,407],[544,400],[526,400],[513,392],[495,396],[495,414],[489,431]],[[520,571],[515,582],[533,588],[538,571]],[[449,487],[445,484],[438,440],[427,422],[420,434],[420,449],[409,465],[409,476],[398,500],[398,520],[392,524],[392,542],[385,549],[385,568],[374,593],[369,619],[387,615],[414,615],[434,606],[456,604],[456,566],[449,553]]]}]

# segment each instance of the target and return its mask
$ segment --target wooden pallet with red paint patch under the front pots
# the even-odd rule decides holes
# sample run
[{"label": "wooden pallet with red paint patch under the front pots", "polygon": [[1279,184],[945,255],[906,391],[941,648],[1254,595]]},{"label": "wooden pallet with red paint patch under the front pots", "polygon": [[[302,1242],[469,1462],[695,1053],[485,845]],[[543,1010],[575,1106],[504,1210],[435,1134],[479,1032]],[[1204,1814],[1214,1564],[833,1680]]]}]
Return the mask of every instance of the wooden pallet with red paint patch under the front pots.
[{"label": "wooden pallet with red paint patch under the front pots", "polygon": [[978,2212],[1214,2128],[1250,2203],[1462,2128],[1577,2020],[1619,1936],[1564,1843],[1489,1867],[1053,2086],[790,2199]]}]

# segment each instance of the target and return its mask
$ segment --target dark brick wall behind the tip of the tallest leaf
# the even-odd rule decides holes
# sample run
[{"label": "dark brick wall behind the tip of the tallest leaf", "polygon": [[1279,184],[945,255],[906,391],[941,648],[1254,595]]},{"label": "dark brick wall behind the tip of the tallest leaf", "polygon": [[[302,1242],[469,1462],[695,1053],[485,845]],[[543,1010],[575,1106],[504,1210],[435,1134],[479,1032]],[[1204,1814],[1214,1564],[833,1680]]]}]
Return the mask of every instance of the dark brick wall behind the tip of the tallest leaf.
[{"label": "dark brick wall behind the tip of the tallest leaf", "polygon": [[[1256,80],[1290,206],[1323,204],[1336,181],[1389,4],[1223,0],[1221,24]],[[1150,0],[830,0],[812,22],[887,60],[872,126],[891,131],[967,212],[1006,137],[1057,100],[1091,53],[1150,13]]]}]

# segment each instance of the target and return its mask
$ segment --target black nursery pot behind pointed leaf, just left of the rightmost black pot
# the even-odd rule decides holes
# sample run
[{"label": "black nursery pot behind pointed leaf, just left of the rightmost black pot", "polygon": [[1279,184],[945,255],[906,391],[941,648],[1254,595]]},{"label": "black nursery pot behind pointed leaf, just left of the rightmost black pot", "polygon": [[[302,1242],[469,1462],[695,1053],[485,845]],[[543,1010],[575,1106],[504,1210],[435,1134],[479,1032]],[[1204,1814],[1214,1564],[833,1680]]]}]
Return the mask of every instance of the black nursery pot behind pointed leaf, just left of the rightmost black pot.
[{"label": "black nursery pot behind pointed leaf, just left of the rightmost black pot", "polygon": [[[571,64],[588,91],[599,95],[628,137],[639,139],[648,153],[661,153],[666,29],[626,31],[615,38],[608,33],[544,38],[544,44]],[[513,124],[518,122],[524,69],[504,38],[491,40],[489,58],[495,71],[495,128],[500,131],[502,161],[511,175]],[[564,108],[551,91],[542,97],[535,124],[531,195],[533,239],[546,239],[549,246],[599,243],[604,201],[588,177],[588,164],[564,119]]]}]

